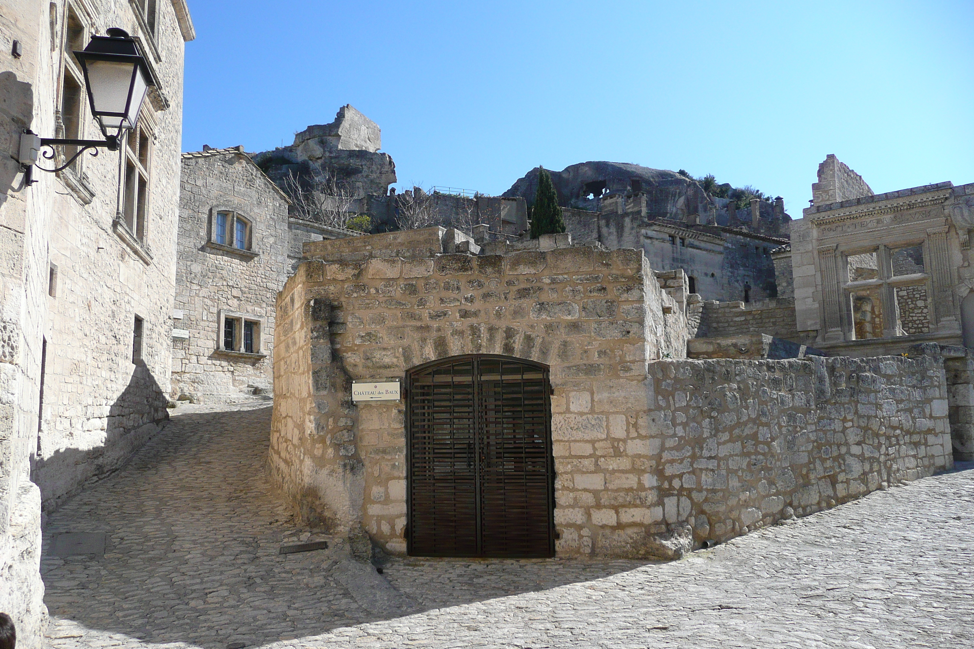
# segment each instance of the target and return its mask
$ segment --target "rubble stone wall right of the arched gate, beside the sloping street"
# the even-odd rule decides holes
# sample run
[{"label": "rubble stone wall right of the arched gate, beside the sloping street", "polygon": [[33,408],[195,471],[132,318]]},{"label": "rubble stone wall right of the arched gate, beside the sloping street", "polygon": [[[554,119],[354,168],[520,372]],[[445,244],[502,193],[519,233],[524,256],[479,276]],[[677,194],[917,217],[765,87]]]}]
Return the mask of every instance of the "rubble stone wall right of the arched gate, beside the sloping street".
[{"label": "rubble stone wall right of the arched gate, beside the sloping street", "polygon": [[[953,466],[942,360],[659,361],[656,516],[723,540]],[[638,531],[638,530],[637,530]]]}]

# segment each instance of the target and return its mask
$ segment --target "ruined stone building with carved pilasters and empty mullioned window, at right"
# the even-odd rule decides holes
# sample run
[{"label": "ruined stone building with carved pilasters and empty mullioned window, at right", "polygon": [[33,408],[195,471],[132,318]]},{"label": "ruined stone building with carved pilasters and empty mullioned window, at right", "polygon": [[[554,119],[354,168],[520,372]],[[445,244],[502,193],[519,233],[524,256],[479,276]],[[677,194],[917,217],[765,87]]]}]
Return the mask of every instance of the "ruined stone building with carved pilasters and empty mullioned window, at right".
[{"label": "ruined stone building with carved pilasters and empty mullioned window, at right", "polygon": [[[878,356],[924,342],[974,343],[974,184],[874,195],[830,155],[812,197],[792,225],[790,263],[797,329],[815,346]],[[964,305],[972,306],[966,318]]]}]

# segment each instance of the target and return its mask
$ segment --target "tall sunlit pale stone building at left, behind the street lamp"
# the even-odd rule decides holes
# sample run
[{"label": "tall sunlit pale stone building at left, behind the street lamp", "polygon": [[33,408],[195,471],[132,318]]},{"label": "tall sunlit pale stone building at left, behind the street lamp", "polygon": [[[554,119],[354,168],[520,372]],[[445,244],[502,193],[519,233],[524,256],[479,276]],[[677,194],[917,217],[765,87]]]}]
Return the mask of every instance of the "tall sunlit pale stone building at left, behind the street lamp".
[{"label": "tall sunlit pale stone building at left, behind the street lamp", "polygon": [[[19,165],[24,129],[100,139],[71,52],[128,31],[158,86],[121,151]],[[119,466],[167,416],[185,0],[0,0],[0,610],[40,646],[42,507]],[[67,162],[40,160],[52,168]],[[43,503],[43,504],[42,504]]]}]

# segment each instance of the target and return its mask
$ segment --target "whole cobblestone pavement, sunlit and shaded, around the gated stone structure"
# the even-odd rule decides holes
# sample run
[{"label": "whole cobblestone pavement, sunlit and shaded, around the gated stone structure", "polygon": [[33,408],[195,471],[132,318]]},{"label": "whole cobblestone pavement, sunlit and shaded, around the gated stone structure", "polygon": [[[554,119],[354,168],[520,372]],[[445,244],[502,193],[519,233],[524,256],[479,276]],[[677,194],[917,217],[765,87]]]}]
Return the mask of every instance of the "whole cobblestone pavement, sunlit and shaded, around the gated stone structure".
[{"label": "whole cobblestone pavement, sunlit and shaded, around the gated stone structure", "polygon": [[[325,551],[263,474],[270,409],[181,408],[48,522],[48,646],[971,647],[974,467],[670,563]],[[249,408],[249,410],[248,410]],[[103,557],[50,556],[107,532]]]}]

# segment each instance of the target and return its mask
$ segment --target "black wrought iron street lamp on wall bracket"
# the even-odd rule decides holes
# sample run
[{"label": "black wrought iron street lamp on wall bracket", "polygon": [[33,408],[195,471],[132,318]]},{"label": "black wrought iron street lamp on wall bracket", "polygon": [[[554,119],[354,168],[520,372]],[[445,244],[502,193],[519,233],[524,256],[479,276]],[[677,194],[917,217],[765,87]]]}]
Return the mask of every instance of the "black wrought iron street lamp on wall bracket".
[{"label": "black wrought iron street lamp on wall bracket", "polygon": [[88,149],[94,150],[93,156],[98,155],[99,147],[118,151],[123,133],[135,127],[145,95],[150,86],[157,85],[156,80],[128,32],[112,27],[107,33],[107,36],[93,36],[84,51],[74,53],[85,76],[92,115],[98,121],[105,139],[39,137],[26,130],[20,137],[19,158],[22,164],[27,165],[28,172],[37,162],[37,154],[43,147],[51,149],[50,153],[42,154],[47,160],[55,158],[55,146],[81,147],[71,160],[55,169],[37,167],[42,171],[60,171]]}]

